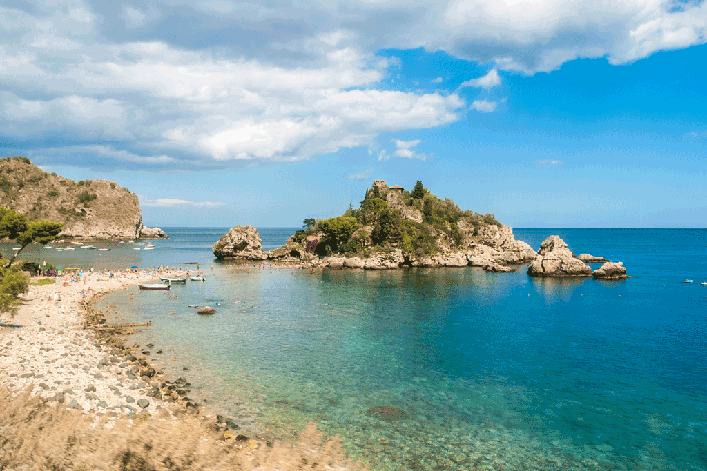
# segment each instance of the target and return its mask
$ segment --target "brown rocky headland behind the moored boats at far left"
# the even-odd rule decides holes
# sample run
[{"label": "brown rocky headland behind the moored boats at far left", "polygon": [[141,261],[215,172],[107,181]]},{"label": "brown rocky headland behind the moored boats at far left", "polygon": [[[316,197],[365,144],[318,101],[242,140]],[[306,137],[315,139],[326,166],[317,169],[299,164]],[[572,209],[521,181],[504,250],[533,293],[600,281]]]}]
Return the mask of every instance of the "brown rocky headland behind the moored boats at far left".
[{"label": "brown rocky headland behind the moored boats at far left", "polygon": [[74,181],[48,174],[27,157],[0,159],[0,205],[29,220],[62,222],[59,237],[80,239],[163,238],[142,223],[137,196],[113,181]]}]

